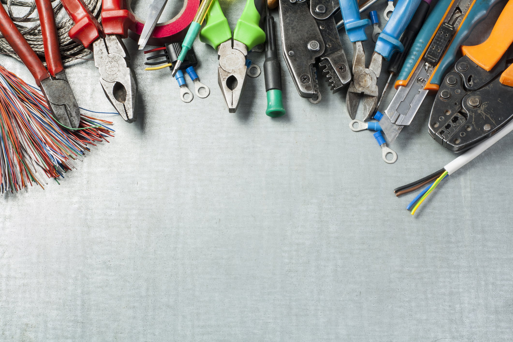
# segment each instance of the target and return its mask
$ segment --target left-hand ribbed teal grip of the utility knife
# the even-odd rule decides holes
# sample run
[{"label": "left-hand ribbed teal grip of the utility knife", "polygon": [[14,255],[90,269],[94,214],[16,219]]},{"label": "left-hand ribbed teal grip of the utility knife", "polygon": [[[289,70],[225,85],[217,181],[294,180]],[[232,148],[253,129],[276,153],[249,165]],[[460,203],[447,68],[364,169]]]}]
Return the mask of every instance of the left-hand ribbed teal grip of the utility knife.
[{"label": "left-hand ribbed teal grip of the utility knife", "polygon": [[439,0],[435,8],[431,11],[431,14],[427,17],[424,25],[417,34],[415,38],[415,42],[411,45],[411,49],[408,52],[408,56],[406,57],[403,68],[397,77],[398,80],[405,80],[408,78],[409,74],[419,61],[423,57],[423,52],[431,40],[433,33],[438,27],[438,24],[442,21],[445,16],[445,12],[449,7],[452,0]]}]

